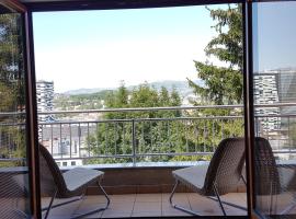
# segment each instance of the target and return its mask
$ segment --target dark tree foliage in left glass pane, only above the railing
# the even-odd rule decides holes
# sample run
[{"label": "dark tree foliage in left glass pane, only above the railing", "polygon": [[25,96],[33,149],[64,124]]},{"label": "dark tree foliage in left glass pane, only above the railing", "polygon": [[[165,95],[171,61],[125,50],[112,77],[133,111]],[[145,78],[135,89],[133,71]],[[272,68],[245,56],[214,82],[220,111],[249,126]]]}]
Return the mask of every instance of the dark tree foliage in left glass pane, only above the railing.
[{"label": "dark tree foliage in left glass pane, only above the railing", "polygon": [[1,111],[15,111],[24,104],[23,48],[20,18],[16,14],[0,15],[0,97]]}]

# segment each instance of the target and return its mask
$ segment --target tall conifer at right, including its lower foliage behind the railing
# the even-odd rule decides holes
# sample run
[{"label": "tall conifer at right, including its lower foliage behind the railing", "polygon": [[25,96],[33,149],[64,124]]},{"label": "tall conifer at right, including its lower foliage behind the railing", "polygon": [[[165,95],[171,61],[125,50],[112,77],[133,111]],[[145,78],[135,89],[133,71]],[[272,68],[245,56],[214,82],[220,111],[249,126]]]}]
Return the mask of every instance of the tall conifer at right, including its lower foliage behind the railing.
[{"label": "tall conifer at right, including its lower foliage behind the railing", "polygon": [[[208,8],[207,8],[208,9]],[[194,61],[197,77],[203,80],[198,85],[189,80],[189,85],[197,96],[202,96],[201,104],[240,104],[242,102],[242,13],[241,4],[228,5],[227,9],[208,9],[217,32],[206,46],[205,53],[208,57],[215,57],[224,62],[218,67],[208,61]],[[194,112],[191,115],[206,117],[207,119],[195,120],[189,129],[190,142],[196,145],[197,150],[215,151],[213,146],[226,137],[243,136],[243,119],[229,118],[230,116],[242,116],[241,110],[206,108]],[[227,117],[215,119],[210,117]],[[198,135],[195,135],[195,134]]]}]

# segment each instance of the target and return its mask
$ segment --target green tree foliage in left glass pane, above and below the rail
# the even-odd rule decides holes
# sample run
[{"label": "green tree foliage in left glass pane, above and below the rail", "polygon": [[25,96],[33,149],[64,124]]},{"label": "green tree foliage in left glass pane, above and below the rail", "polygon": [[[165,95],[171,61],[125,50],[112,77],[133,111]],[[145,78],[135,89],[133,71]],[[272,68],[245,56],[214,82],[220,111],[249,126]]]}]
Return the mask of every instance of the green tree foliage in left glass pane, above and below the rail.
[{"label": "green tree foliage in left glass pane, above and below the rail", "polygon": [[[22,24],[19,14],[0,14],[0,112],[22,112],[24,108],[24,59]],[[24,116],[0,116],[0,157],[25,157]],[[2,163],[1,166],[21,165]]]}]

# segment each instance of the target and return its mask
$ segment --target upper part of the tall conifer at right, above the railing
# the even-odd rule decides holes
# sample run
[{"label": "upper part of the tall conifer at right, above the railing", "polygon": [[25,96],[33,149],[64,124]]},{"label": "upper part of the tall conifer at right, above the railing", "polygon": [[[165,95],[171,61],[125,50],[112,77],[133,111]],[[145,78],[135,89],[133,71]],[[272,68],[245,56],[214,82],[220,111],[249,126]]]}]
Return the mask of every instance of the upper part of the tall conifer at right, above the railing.
[{"label": "upper part of the tall conifer at right, above the railing", "polygon": [[[208,9],[208,8],[207,8]],[[228,5],[227,9],[208,9],[216,24],[218,35],[206,46],[208,57],[214,56],[226,67],[218,67],[208,61],[194,61],[198,77],[204,85],[192,80],[189,84],[196,94],[214,104],[234,104],[242,102],[242,9],[241,4]]]}]

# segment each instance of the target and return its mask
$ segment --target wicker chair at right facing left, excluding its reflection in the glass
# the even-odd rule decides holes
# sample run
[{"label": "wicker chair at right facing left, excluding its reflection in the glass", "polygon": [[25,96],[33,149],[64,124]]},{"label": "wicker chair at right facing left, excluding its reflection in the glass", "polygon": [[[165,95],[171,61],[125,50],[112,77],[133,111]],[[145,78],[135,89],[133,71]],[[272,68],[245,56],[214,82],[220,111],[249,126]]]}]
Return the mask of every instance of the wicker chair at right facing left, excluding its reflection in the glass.
[{"label": "wicker chair at right facing left, excluding its reflection in the glass", "polygon": [[[246,208],[241,206],[220,200],[220,195],[237,189],[241,178],[246,183],[242,177],[243,164],[243,138],[224,139],[217,147],[208,166],[196,165],[172,172],[172,175],[175,178],[175,185],[169,198],[171,206],[192,215],[200,215],[196,211],[173,204],[172,198],[175,188],[182,183],[200,195],[217,200],[225,216],[226,212],[223,204],[246,210]],[[213,196],[216,196],[217,199]]]}]

